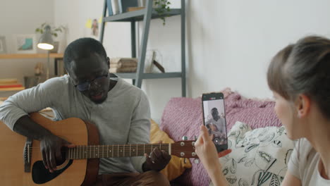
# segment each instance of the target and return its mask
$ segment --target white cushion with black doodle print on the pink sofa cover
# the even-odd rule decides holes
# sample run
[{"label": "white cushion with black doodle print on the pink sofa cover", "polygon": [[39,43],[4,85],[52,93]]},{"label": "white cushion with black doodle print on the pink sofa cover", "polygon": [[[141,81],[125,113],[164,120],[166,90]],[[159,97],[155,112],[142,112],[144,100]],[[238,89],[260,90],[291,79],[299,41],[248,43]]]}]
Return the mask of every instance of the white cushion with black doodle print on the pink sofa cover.
[{"label": "white cushion with black doodle print on the pink sofa cover", "polygon": [[219,161],[230,185],[279,186],[293,142],[284,127],[251,130],[249,125],[236,122],[228,132],[228,148],[231,154]]}]

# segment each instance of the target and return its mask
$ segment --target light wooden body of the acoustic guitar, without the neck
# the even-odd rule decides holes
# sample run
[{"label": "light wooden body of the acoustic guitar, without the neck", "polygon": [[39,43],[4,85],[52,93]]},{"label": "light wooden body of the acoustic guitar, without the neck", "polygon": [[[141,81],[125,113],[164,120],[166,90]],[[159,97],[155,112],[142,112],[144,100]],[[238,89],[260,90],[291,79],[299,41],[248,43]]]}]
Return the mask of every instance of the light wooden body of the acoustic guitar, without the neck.
[{"label": "light wooden body of the acoustic guitar, without the neck", "polygon": [[[78,118],[54,122],[44,118],[39,113],[32,113],[30,117],[54,135],[73,144],[99,144],[97,128]],[[0,122],[1,185],[92,185],[96,180],[99,171],[99,159],[70,160],[70,163],[62,170],[55,171],[53,174],[46,169],[43,170],[40,143],[37,140],[32,141],[30,173],[25,172],[23,149],[26,140],[26,137],[11,131],[4,123]],[[33,178],[32,175],[34,175]]]}]

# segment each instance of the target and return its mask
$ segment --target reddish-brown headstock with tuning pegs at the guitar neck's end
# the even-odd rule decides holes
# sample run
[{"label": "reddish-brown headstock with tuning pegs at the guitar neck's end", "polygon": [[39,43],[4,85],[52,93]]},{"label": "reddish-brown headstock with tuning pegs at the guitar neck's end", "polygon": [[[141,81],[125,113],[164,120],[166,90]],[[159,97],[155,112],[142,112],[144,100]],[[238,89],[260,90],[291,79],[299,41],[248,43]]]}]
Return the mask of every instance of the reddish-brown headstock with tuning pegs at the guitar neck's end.
[{"label": "reddish-brown headstock with tuning pegs at the guitar neck's end", "polygon": [[179,158],[198,158],[195,153],[195,140],[183,140],[172,143],[171,155]]}]

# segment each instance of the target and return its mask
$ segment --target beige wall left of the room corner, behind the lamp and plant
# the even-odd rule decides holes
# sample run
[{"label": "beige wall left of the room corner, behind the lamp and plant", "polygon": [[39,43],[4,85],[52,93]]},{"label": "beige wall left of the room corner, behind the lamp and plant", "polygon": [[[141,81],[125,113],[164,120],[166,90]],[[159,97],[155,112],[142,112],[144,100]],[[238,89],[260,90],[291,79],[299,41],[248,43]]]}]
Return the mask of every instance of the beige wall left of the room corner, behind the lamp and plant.
[{"label": "beige wall left of the room corner, behind the lamp and plant", "polygon": [[[6,37],[7,53],[13,53],[13,35],[35,34],[35,29],[42,23],[54,22],[54,0],[0,1],[0,35]],[[0,78],[18,78],[23,82],[24,76],[34,75],[35,64],[47,59],[0,59]],[[51,73],[53,72],[51,63]],[[6,97],[13,92],[0,92]]]}]

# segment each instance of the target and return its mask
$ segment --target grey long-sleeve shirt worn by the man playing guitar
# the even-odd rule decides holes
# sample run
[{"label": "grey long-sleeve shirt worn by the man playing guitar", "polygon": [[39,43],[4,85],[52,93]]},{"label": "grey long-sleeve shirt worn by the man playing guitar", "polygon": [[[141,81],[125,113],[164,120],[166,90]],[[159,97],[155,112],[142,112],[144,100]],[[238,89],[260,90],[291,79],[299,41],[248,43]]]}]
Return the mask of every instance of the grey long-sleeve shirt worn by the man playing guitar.
[{"label": "grey long-sleeve shirt worn by the man playing guitar", "polygon": [[[16,121],[50,107],[56,120],[81,118],[97,125],[100,144],[149,143],[150,109],[141,89],[118,78],[102,104],[94,104],[73,86],[68,75],[54,77],[9,97],[0,106],[0,120],[11,130]],[[144,156],[100,159],[99,174],[142,172]]]}]

